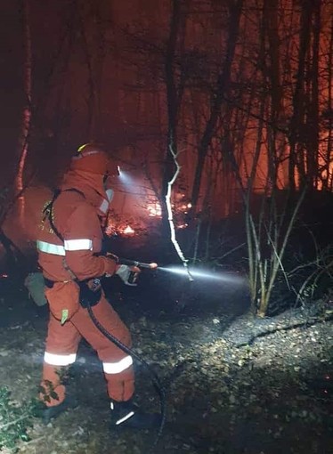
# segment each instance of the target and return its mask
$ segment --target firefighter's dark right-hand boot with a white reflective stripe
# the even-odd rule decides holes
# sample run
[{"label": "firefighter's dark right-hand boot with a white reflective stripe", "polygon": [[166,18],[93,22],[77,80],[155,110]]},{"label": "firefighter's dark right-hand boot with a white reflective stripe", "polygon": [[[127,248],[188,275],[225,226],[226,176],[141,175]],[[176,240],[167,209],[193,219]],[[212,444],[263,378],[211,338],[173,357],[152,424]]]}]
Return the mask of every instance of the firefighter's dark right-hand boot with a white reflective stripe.
[{"label": "firefighter's dark right-hand boot with a white reflective stripe", "polygon": [[111,401],[111,426],[116,428],[150,429],[158,427],[160,415],[144,413],[132,401]]}]

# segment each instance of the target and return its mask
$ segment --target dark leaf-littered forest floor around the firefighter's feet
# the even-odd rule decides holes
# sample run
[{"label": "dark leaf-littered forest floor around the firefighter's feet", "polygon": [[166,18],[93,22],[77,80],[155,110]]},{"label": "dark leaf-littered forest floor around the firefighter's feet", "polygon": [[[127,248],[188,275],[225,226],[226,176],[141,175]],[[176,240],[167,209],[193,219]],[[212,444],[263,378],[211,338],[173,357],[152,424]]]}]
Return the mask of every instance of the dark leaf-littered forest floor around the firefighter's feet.
[{"label": "dark leaf-littered forest floor around the firefighter's feet", "polygon": [[[46,319],[20,283],[6,278],[0,285],[0,384],[20,404],[37,393]],[[333,453],[329,298],[319,310],[255,320],[245,288],[228,282],[190,286],[143,277],[138,288],[114,283],[110,295],[131,328],[135,352],[167,386],[167,425],[155,454]],[[158,409],[140,364],[136,374],[137,401]],[[155,432],[110,430],[101,365],[84,343],[69,386],[77,408],[48,426],[33,418],[30,440],[18,442],[18,452],[150,452]]]}]

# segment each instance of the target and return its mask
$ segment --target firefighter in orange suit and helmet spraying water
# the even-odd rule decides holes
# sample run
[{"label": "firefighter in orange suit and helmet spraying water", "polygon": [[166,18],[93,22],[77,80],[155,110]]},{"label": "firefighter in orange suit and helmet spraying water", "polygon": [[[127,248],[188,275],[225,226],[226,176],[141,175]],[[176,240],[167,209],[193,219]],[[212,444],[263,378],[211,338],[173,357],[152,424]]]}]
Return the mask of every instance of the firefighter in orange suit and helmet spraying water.
[{"label": "firefighter in orange suit and helmet spraying water", "polygon": [[45,422],[73,406],[63,377],[76,361],[77,347],[84,337],[102,361],[111,424],[141,428],[155,425],[157,416],[143,413],[133,402],[133,359],[102,335],[81,304],[82,292],[87,289],[89,297],[93,295],[90,303],[97,320],[119,341],[131,346],[131,335],[102,288],[92,290],[94,278],[116,274],[128,284],[133,271],[119,266],[114,258],[99,255],[101,225],[112,195],[104,185],[108,170],[110,161],[101,146],[88,143],[80,147],[71,159],[60,192],[45,207],[38,228],[38,263],[50,305],[40,399]]}]

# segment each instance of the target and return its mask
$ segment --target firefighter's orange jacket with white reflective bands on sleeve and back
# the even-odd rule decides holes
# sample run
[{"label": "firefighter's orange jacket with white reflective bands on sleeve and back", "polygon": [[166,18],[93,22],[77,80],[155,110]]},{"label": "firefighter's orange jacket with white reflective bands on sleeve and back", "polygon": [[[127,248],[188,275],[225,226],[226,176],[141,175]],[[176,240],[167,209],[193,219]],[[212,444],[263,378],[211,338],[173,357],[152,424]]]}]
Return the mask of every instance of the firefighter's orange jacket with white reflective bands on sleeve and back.
[{"label": "firefighter's orange jacket with white reflective bands on sleeve and back", "polygon": [[[75,189],[77,191],[66,191]],[[102,248],[99,207],[108,199],[102,176],[83,171],[69,171],[61,185],[61,194],[53,203],[53,224],[46,218],[39,225],[38,262],[45,278],[56,282],[72,280],[67,267],[78,280],[114,274],[118,265],[110,258],[96,255]],[[67,265],[67,266],[66,266]]]}]

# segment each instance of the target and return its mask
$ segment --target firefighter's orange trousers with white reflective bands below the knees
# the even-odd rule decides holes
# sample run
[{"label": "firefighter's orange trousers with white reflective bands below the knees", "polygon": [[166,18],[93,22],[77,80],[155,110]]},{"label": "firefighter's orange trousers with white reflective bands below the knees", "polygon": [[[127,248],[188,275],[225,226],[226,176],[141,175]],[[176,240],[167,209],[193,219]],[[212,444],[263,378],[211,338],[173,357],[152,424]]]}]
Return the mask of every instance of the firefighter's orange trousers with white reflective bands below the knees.
[{"label": "firefighter's orange trousers with white reflective bands below the knees", "polygon": [[[126,346],[132,345],[131,335],[118,313],[102,296],[93,306],[93,313],[112,336]],[[63,377],[76,359],[77,347],[84,337],[102,361],[108,394],[114,401],[128,401],[134,394],[134,369],[132,358],[114,345],[94,326],[86,309],[78,311],[64,325],[50,313],[45,345],[42,390],[40,399],[47,406],[58,405],[65,399]]]}]

